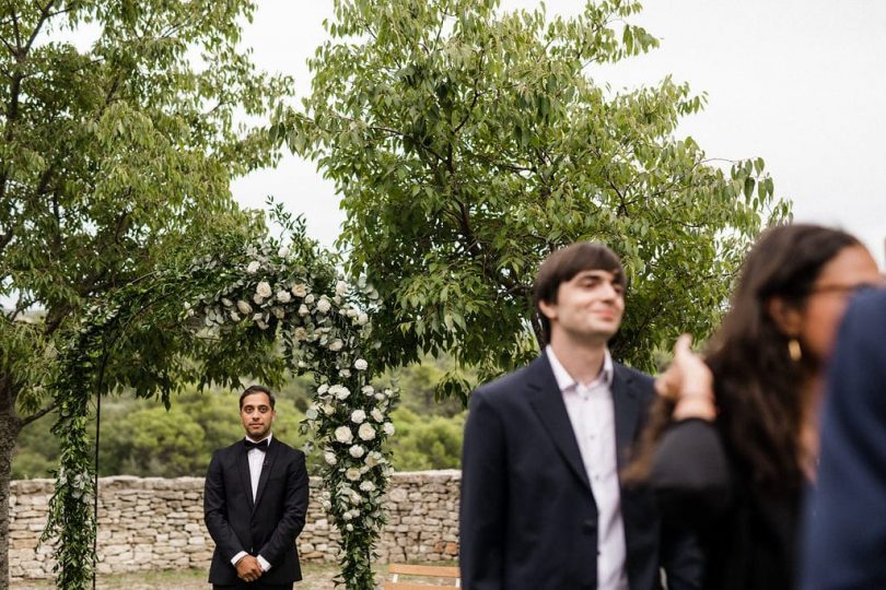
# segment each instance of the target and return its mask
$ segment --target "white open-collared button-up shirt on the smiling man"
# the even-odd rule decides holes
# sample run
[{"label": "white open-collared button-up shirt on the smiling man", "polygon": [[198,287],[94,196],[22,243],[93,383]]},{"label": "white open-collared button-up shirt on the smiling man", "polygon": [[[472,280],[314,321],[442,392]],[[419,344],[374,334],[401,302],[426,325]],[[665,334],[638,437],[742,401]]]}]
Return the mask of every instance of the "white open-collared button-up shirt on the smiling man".
[{"label": "white open-collared button-up shirt on the smiling man", "polygon": [[597,588],[628,590],[627,547],[621,519],[621,488],[616,460],[613,357],[607,350],[603,368],[590,384],[578,382],[553,353],[545,349],[572,424],[587,481],[597,505]]}]

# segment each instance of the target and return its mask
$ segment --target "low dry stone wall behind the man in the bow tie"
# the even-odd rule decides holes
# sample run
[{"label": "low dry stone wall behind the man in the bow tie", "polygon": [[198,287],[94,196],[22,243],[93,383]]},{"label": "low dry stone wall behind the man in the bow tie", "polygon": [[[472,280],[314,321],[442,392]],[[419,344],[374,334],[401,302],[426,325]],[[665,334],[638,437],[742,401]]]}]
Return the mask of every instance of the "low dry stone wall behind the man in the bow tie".
[{"label": "low dry stone wall behind the man in the bow tie", "polygon": [[[396,473],[385,506],[388,523],[376,547],[381,562],[454,560],[458,556],[457,470]],[[53,494],[51,480],[15,481],[10,499],[10,577],[53,577],[53,547],[37,547]],[[214,547],[203,526],[202,477],[103,477],[98,483],[98,571],[208,569]],[[303,562],[338,560],[335,526],[311,479],[307,522],[299,536]]]}]

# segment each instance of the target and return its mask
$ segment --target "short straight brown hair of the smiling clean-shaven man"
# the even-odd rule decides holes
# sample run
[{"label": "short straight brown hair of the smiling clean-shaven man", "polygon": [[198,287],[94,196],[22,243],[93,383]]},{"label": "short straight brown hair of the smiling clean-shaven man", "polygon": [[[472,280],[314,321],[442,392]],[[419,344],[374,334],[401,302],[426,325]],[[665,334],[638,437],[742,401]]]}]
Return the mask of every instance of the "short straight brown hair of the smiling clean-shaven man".
[{"label": "short straight brown hair of the smiling clean-shaven man", "polygon": [[613,250],[594,241],[578,241],[551,253],[538,269],[533,287],[533,300],[541,321],[545,342],[550,342],[550,320],[541,312],[541,302],[557,303],[557,290],[561,283],[575,278],[580,272],[603,270],[615,275],[616,284],[627,286],[621,260]]}]

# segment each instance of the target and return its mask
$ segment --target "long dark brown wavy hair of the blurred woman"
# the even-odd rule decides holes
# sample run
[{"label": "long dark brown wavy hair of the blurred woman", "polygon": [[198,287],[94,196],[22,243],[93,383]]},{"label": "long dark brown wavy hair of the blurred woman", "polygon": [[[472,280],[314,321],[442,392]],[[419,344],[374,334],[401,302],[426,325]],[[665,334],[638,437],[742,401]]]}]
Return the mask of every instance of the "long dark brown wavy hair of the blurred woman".
[{"label": "long dark brown wavy hair of the blurred woman", "polygon": [[[770,316],[772,297],[802,308],[821,269],[859,240],[817,225],[768,229],[745,259],[731,307],[710,340],[704,361],[714,376],[716,426],[736,467],[755,487],[794,492],[803,485],[800,430],[801,387],[821,359],[804,353],[791,358],[788,340]],[[627,481],[639,481],[650,462],[674,405],[656,400]]]}]

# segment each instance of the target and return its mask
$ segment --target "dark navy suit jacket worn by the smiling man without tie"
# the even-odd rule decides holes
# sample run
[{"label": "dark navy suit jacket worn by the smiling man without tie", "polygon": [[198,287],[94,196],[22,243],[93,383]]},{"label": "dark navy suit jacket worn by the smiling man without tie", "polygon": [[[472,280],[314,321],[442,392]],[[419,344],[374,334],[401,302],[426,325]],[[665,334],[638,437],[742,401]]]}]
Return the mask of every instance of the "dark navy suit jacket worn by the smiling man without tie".
[{"label": "dark navy suit jacket worn by the smiling man without tie", "polygon": [[[652,378],[614,366],[618,467],[654,397]],[[471,396],[462,459],[461,568],[467,590],[595,589],[597,508],[562,394],[543,354]],[[699,588],[700,553],[665,532],[648,489],[621,489],[631,590]]]}]

